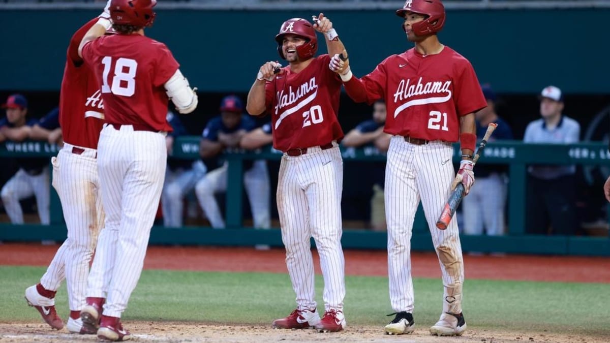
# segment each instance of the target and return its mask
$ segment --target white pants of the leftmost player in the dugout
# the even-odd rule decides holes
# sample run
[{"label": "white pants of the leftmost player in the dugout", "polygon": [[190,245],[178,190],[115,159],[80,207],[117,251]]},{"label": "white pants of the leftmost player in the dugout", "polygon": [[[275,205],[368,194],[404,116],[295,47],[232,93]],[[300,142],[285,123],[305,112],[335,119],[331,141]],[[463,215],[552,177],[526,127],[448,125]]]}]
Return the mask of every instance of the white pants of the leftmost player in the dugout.
[{"label": "white pants of the leftmost player in the dugout", "polygon": [[38,208],[40,223],[49,225],[49,202],[51,201],[51,187],[49,186],[49,168],[43,168],[38,175],[29,175],[20,168],[9,181],[4,184],[0,197],[4,203],[4,209],[13,224],[23,224],[23,210],[20,200],[34,195]]}]

